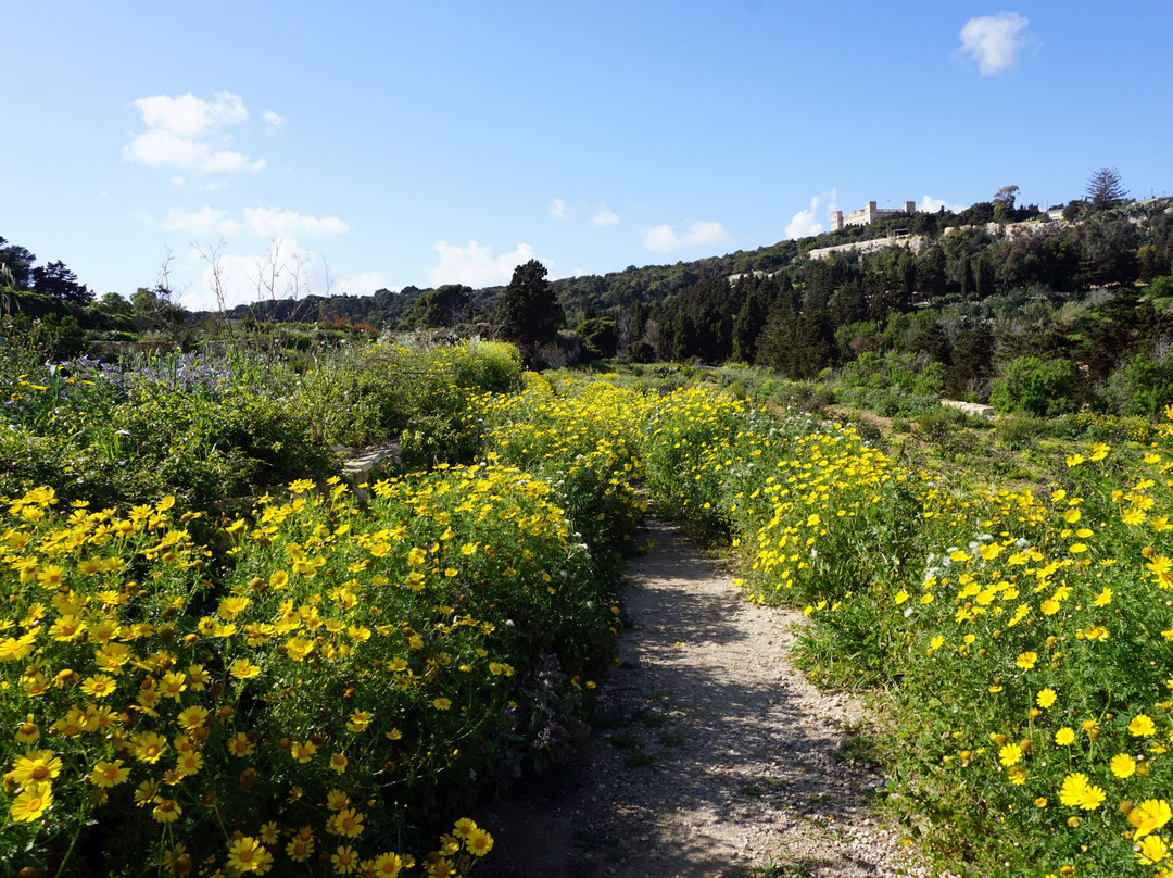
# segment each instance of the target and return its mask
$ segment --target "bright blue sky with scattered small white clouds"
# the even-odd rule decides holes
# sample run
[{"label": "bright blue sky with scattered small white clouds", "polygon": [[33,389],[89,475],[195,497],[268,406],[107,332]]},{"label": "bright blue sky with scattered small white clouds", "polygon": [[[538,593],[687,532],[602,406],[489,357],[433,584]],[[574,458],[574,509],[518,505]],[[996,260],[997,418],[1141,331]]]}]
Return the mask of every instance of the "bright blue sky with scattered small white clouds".
[{"label": "bright blue sky with scattered small white clouds", "polygon": [[[9,0],[0,235],[99,293],[506,283],[1173,191],[1173,4]],[[218,242],[223,239],[223,244]]]}]

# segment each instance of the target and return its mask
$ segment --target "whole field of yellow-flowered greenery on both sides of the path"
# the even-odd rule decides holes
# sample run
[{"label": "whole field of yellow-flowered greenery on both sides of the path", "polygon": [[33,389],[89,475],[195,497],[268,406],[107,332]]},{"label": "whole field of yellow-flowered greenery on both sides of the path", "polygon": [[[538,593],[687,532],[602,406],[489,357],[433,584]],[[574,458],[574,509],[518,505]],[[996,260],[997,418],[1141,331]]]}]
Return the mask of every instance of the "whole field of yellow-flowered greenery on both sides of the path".
[{"label": "whole field of yellow-flowered greenery on both sides of the path", "polygon": [[[479,797],[584,734],[646,502],[870,689],[883,798],[942,864],[1171,865],[1168,400],[881,431],[827,413],[890,389],[880,358],[834,385],[523,374],[501,343],[32,350],[0,364],[0,859],[28,876],[467,873]],[[334,446],[374,441],[398,461],[347,485]]]}]

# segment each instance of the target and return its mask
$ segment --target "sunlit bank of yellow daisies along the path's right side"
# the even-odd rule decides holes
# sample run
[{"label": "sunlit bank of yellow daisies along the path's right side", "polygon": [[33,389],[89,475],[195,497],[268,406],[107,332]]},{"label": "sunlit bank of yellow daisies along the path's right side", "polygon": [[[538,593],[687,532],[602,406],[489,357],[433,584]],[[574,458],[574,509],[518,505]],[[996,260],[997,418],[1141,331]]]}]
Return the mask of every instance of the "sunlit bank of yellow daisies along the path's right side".
[{"label": "sunlit bank of yellow daisies along the path's right side", "polygon": [[1165,874],[1173,426],[979,487],[846,424],[673,398],[653,491],[730,533],[751,600],[804,608],[816,675],[884,693],[910,837],[1006,874]]}]

